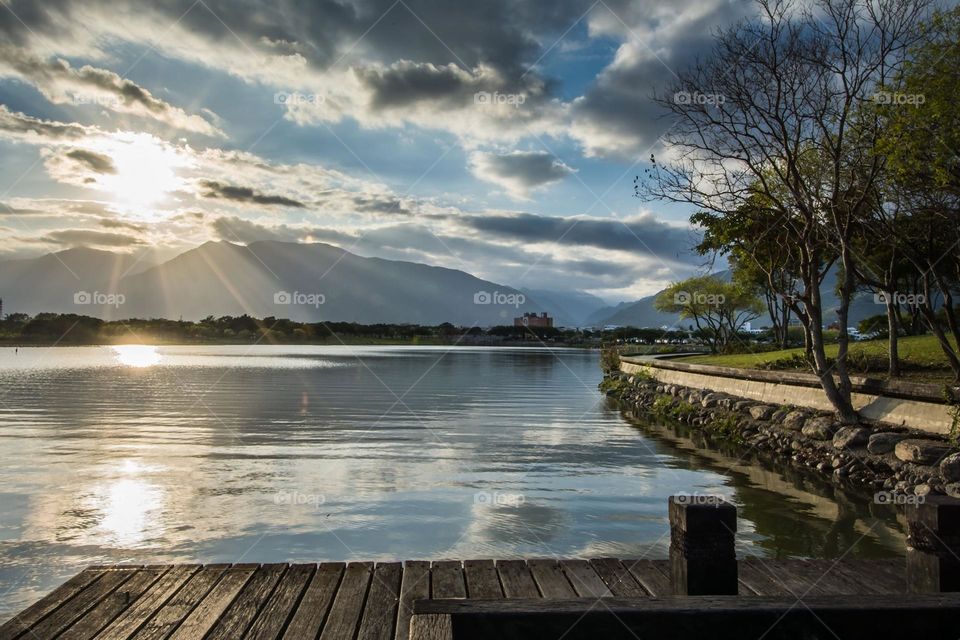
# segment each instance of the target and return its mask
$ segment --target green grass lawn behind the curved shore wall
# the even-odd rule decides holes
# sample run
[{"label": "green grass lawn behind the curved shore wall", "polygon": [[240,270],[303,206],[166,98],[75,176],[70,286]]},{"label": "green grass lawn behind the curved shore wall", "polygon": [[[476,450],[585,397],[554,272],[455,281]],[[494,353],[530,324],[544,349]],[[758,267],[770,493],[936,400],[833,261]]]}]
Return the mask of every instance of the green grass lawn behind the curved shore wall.
[{"label": "green grass lawn behind the curved shore wall", "polygon": [[[953,374],[937,339],[933,336],[900,338],[900,364],[903,377],[916,382],[947,383]],[[850,369],[855,374],[885,377],[887,372],[887,341],[870,340],[850,344]],[[827,345],[827,357],[836,357],[837,345]],[[764,351],[758,353],[735,353],[721,356],[692,356],[683,362],[714,364],[742,369],[809,370],[800,361],[803,349]]]}]

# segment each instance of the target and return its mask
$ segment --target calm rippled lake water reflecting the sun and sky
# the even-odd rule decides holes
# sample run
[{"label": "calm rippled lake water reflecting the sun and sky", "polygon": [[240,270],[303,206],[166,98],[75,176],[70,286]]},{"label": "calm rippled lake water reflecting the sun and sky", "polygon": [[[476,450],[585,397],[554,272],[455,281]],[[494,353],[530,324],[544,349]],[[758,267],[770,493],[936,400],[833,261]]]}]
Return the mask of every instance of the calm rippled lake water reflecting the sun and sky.
[{"label": "calm rippled lake water reflecting the sun and sky", "polygon": [[665,557],[666,498],[741,553],[900,553],[892,513],[624,416],[595,352],[0,349],[0,618],[91,563]]}]

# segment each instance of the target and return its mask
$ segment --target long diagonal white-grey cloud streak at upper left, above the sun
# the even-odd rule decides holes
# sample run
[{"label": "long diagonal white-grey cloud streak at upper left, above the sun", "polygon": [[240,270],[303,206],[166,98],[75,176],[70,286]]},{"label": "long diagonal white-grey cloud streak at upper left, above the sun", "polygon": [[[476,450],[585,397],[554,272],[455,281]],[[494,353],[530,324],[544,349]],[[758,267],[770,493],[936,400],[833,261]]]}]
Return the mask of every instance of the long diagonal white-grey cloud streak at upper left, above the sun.
[{"label": "long diagonal white-grey cloud streak at upper left, above the sun", "polygon": [[107,69],[90,65],[77,69],[60,58],[47,60],[26,49],[5,46],[0,48],[0,75],[32,84],[54,104],[93,105],[150,118],[175,129],[226,137],[200,116],[187,114]]}]

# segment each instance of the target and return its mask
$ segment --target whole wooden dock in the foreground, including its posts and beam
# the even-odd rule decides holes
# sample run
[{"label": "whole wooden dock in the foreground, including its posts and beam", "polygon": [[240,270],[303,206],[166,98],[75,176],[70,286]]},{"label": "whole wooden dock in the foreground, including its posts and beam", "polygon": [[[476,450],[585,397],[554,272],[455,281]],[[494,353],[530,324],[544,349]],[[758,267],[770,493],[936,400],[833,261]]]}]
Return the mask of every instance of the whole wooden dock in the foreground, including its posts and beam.
[{"label": "whole wooden dock in the foreground, including its posts and beam", "polygon": [[960,501],[908,508],[905,560],[738,560],[733,505],[668,511],[669,560],[90,567],[0,640],[956,639]]}]

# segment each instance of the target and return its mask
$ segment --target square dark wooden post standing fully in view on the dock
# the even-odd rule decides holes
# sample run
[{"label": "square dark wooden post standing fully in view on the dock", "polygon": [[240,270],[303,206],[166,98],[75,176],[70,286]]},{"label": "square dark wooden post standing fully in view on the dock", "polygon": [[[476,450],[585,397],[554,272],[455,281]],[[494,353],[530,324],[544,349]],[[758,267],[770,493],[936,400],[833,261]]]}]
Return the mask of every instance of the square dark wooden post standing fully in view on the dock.
[{"label": "square dark wooden post standing fully in view on the dock", "polygon": [[715,496],[670,496],[669,515],[673,594],[737,595],[737,508]]}]

